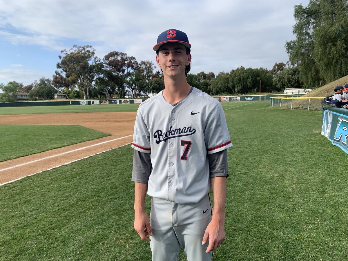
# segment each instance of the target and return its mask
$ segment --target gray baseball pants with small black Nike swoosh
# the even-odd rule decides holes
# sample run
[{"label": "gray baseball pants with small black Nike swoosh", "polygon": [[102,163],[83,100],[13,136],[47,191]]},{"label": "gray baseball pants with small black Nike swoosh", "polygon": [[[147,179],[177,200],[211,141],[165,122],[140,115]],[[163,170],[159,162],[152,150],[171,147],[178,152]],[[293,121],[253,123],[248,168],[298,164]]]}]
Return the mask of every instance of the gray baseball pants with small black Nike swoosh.
[{"label": "gray baseball pants with small black Nike swoosh", "polygon": [[212,219],[209,195],[198,203],[179,205],[159,198],[151,199],[150,247],[152,261],[178,261],[180,246],[188,261],[211,261],[202,245],[204,231]]}]

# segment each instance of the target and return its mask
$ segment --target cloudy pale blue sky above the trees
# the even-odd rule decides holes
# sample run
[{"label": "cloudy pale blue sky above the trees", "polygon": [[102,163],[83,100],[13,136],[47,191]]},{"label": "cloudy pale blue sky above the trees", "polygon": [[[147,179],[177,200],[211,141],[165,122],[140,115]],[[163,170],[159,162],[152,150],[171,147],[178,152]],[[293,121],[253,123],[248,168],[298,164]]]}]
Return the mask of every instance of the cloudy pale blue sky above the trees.
[{"label": "cloudy pale blue sky above the trees", "polygon": [[192,44],[191,72],[288,61],[294,6],[309,0],[0,0],[0,83],[52,78],[62,49],[92,45],[155,63],[159,33],[178,29]]}]

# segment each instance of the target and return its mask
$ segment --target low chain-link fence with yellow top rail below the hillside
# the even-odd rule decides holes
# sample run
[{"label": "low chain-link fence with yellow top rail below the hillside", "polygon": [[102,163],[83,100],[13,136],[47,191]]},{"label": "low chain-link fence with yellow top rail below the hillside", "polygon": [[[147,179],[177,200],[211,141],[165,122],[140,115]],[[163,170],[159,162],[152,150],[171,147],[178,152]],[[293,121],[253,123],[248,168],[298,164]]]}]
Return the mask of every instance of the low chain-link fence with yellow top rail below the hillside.
[{"label": "low chain-link fence with yellow top rail below the hillside", "polygon": [[269,106],[282,109],[322,110],[325,97],[271,97]]}]

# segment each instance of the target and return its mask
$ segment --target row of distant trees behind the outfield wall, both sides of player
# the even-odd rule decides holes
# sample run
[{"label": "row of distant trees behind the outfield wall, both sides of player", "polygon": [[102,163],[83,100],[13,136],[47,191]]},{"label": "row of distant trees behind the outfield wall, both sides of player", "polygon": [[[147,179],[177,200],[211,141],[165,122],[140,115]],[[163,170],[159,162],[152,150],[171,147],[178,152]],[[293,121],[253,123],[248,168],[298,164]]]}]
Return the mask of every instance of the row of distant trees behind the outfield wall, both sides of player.
[{"label": "row of distant trees behind the outfield wall, both sides of player", "polygon": [[[30,85],[11,81],[0,84],[2,101],[15,101],[17,92],[28,94],[31,100],[52,99],[55,93],[65,94],[68,98],[123,98],[131,93],[133,98],[146,97],[164,89],[164,80],[160,71],[150,61],[138,62],[135,57],[122,52],[110,52],[102,59],[95,56],[90,45],[74,45],[62,50],[58,56],[57,70],[52,79],[41,78]],[[188,83],[211,95],[251,94],[282,91],[285,88],[302,87],[296,66],[283,62],[276,63],[272,70],[253,69],[240,66],[229,73],[213,72],[188,73]]]}]

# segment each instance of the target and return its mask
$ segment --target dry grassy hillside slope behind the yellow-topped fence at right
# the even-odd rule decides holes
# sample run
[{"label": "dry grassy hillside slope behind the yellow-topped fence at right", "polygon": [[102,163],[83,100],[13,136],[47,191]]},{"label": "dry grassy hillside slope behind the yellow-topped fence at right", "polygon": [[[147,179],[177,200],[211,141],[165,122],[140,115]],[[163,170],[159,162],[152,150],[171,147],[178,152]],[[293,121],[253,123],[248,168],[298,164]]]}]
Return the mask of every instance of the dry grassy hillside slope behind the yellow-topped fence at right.
[{"label": "dry grassy hillside slope behind the yellow-topped fence at right", "polygon": [[[302,97],[326,97],[333,94],[333,90],[337,85],[344,86],[345,84],[348,84],[348,75],[340,79],[337,79],[335,81],[332,81],[328,84],[325,84],[324,86],[319,87],[313,90],[312,92],[309,92],[303,95]],[[311,108],[314,107],[314,108],[320,109],[322,107],[322,105],[320,104],[321,101],[322,99],[312,99],[310,101]],[[293,100],[293,108],[300,109],[300,108],[307,108],[307,106],[308,106],[307,99]]]}]

